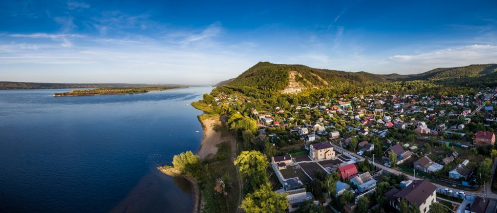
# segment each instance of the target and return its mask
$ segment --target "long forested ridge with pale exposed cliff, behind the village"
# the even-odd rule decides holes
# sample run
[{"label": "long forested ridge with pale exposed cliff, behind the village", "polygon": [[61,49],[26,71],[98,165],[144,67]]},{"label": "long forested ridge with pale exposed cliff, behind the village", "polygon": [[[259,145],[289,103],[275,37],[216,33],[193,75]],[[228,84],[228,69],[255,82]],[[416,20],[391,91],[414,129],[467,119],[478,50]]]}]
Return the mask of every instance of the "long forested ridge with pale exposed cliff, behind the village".
[{"label": "long forested ridge with pale exposed cliff, behind the village", "polygon": [[[255,99],[278,99],[280,95],[335,96],[418,91],[432,95],[473,94],[497,86],[497,65],[437,68],[414,75],[373,74],[315,69],[303,65],[259,62],[216,91],[241,92]],[[274,100],[273,100],[274,101]]]}]

